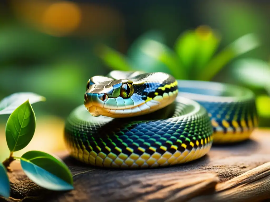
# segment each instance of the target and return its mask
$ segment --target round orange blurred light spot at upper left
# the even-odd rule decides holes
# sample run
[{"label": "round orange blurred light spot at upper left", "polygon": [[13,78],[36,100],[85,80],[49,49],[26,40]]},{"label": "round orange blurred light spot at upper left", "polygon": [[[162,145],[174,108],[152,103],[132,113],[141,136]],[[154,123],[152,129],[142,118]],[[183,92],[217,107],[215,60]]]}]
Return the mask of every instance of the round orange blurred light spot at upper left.
[{"label": "round orange blurred light spot at upper left", "polygon": [[42,17],[45,32],[63,36],[76,30],[81,22],[80,8],[73,2],[61,1],[51,4]]}]

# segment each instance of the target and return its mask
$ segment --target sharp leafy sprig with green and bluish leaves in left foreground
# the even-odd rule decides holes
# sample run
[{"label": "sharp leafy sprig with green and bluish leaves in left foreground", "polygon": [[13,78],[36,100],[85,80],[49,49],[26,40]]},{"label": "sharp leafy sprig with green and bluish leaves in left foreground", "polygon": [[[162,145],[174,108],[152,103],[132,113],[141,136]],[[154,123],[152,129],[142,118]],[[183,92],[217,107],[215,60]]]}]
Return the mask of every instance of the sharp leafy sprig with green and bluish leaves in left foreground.
[{"label": "sharp leafy sprig with green and bluish leaves in left foreground", "polygon": [[59,191],[73,189],[71,172],[59,158],[41,151],[28,151],[21,157],[13,155],[32,140],[36,117],[31,103],[39,101],[45,101],[45,98],[35,93],[14,93],[0,102],[0,114],[10,114],[6,123],[6,143],[10,155],[0,163],[0,195],[5,198],[10,196],[7,172],[12,172],[9,166],[16,159],[20,160],[29,179],[39,186]]}]

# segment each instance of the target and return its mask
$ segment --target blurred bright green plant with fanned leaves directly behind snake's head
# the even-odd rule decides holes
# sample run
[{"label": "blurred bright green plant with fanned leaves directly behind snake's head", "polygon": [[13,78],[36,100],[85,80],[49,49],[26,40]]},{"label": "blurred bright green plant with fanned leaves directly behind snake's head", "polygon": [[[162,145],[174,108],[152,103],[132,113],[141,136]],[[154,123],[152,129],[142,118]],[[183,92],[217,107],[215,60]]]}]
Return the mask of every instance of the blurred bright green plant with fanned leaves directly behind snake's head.
[{"label": "blurred bright green plant with fanned leaves directly behind snake's head", "polygon": [[127,57],[102,45],[98,55],[112,69],[163,70],[176,79],[210,81],[228,62],[259,46],[253,34],[247,34],[216,53],[220,35],[208,26],[188,30],[175,41],[174,50],[163,43],[156,32],[146,33],[131,44]]}]

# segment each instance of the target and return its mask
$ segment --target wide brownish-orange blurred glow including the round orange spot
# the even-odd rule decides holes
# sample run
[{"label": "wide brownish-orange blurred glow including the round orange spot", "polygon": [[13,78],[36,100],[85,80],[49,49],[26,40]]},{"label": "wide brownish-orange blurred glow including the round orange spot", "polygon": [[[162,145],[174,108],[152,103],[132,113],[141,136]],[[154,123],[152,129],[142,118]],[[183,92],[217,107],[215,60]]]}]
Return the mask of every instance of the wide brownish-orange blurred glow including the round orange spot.
[{"label": "wide brownish-orange blurred glow including the round orange spot", "polygon": [[11,2],[19,20],[53,36],[100,37],[123,33],[123,16],[107,5],[64,0]]}]

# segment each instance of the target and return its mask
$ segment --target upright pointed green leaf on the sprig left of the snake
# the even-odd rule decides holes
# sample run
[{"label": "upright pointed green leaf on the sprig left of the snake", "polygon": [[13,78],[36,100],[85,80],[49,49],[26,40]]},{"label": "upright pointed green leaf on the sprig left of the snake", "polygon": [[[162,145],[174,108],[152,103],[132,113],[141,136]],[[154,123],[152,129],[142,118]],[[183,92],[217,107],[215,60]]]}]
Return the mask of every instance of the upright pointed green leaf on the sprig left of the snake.
[{"label": "upright pointed green leaf on the sprig left of the snake", "polygon": [[36,116],[29,100],[22,103],[8,118],[6,142],[9,151],[19,151],[32,140],[36,129]]}]

